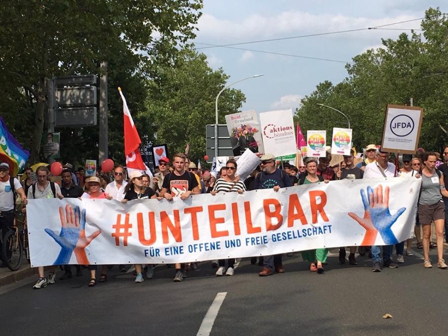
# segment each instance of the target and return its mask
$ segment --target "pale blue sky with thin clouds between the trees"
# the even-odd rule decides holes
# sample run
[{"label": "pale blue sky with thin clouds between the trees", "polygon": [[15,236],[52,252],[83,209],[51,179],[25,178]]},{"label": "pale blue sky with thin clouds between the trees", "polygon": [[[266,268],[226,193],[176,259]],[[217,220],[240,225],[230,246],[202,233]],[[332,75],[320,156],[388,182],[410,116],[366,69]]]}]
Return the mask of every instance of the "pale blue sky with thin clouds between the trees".
[{"label": "pale blue sky with thin clouds between the trees", "polygon": [[[204,0],[193,42],[213,69],[222,67],[230,75],[227,83],[264,74],[232,86],[246,95],[243,111],[294,110],[319,82],[342,81],[347,76],[345,64],[354,56],[381,47],[381,38],[396,39],[411,31],[371,29],[233,46],[252,51],[204,47],[375,27],[422,18],[429,7],[448,12],[446,0]],[[420,20],[384,28],[419,29]]]}]

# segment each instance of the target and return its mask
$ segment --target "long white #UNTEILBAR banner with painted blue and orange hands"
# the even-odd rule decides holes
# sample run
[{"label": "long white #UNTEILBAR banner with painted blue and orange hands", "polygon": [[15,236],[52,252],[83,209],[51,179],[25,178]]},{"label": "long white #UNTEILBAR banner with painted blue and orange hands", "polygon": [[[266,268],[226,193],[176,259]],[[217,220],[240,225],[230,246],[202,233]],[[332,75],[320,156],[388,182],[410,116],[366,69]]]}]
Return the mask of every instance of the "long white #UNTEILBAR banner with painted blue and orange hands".
[{"label": "long white #UNTEILBAR banner with painted blue and orange hands", "polygon": [[31,267],[173,264],[394,244],[412,237],[420,185],[416,178],[377,178],[185,201],[30,199]]}]

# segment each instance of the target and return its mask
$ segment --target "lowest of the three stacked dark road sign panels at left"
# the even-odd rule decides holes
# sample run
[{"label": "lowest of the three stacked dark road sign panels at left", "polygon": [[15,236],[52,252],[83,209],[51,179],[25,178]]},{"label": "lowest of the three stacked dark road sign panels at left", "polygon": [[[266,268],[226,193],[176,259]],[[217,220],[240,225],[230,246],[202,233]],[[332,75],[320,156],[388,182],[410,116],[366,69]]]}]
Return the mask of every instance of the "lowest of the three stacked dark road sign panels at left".
[{"label": "lowest of the three stacked dark road sign panels at left", "polygon": [[55,111],[55,127],[83,127],[96,124],[96,107],[58,108]]}]

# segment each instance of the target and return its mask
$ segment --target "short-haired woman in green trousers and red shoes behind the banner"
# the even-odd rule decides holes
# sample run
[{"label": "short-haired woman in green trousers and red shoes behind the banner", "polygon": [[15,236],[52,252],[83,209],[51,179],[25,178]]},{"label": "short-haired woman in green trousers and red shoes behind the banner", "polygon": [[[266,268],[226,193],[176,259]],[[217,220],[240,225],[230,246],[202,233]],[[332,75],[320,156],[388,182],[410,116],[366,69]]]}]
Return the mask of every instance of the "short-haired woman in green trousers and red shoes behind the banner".
[{"label": "short-haired woman in green trousers and red shoes behind the banner", "polygon": [[[303,175],[299,181],[299,185],[325,182],[329,183],[329,180],[324,180],[322,175],[317,175],[317,162],[314,158],[308,158],[305,162],[305,168],[307,175]],[[322,264],[327,262],[328,249],[316,248],[306,251],[302,251],[302,259],[310,263],[310,272],[316,272],[318,274],[323,273]],[[317,261],[317,267],[314,261]]]}]

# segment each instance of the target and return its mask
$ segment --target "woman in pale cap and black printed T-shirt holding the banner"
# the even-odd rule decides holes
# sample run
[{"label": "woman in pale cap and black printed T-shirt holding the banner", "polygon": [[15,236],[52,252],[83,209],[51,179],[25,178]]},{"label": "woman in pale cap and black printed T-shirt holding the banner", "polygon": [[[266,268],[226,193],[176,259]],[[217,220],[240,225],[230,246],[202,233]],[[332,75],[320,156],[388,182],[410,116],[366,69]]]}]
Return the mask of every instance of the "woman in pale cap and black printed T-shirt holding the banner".
[{"label": "woman in pale cap and black printed T-shirt holding the banner", "polygon": [[[146,188],[143,185],[143,176],[145,176],[145,173],[140,171],[134,171],[130,174],[129,178],[131,182],[126,185],[125,198],[121,200],[121,203],[127,203],[135,199],[156,198],[154,190],[152,188]],[[150,266],[152,267],[152,265]],[[134,265],[134,267],[136,272],[134,282],[143,282],[142,265]]]}]

